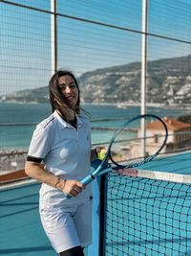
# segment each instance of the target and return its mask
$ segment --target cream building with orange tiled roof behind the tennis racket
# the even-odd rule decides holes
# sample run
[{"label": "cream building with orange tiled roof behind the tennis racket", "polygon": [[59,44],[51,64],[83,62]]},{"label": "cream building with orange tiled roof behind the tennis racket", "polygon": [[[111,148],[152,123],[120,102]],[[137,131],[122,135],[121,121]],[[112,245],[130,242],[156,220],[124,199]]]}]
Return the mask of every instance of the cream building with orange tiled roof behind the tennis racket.
[{"label": "cream building with orange tiled roof behind the tennis racket", "polygon": [[[191,125],[183,123],[176,118],[163,118],[163,121],[168,128],[168,138],[165,147],[160,153],[169,153],[180,151],[182,149],[191,149]],[[163,141],[164,132],[162,131],[159,121],[147,124],[146,126],[146,143],[145,154],[149,155],[159,149]],[[162,134],[163,132],[163,134]],[[140,128],[138,129],[138,138],[140,136]],[[141,139],[133,141],[130,146],[131,158],[142,156]]]}]

